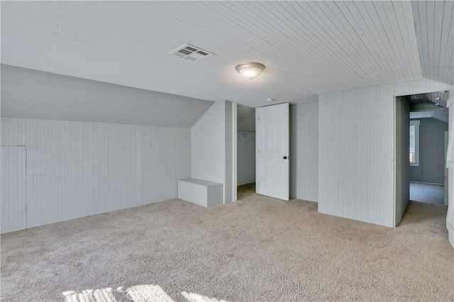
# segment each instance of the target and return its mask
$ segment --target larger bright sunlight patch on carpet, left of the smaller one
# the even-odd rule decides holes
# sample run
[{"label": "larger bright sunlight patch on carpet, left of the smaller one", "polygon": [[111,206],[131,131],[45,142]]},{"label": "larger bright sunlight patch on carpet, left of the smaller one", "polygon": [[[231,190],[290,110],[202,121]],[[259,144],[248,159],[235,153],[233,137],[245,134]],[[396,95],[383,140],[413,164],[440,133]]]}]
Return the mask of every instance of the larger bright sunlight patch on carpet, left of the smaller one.
[{"label": "larger bright sunlight patch on carpet, left of the smaller one", "polygon": [[116,290],[110,287],[106,289],[86,289],[81,292],[64,291],[65,302],[116,302],[116,298],[121,301],[133,302],[173,302],[172,298],[165,293],[159,285],[143,284],[128,288],[118,287]]}]

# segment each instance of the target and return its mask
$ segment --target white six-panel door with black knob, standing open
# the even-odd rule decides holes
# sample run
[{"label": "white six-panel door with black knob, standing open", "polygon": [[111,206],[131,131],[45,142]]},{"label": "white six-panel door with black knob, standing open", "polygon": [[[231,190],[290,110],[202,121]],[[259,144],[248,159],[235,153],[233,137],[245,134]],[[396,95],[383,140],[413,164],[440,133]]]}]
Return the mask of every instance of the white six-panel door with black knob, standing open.
[{"label": "white six-panel door with black knob, standing open", "polygon": [[289,104],[257,108],[256,192],[289,200]]}]

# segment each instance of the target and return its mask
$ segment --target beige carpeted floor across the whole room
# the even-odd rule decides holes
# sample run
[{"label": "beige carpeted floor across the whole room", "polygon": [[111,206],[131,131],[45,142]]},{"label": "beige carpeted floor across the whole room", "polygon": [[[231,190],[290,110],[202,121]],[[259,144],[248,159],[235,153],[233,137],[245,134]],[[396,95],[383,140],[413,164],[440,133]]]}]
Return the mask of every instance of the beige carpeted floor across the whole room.
[{"label": "beige carpeted floor across the whole room", "polygon": [[1,235],[1,301],[453,301],[447,207],[393,229],[250,189]]}]

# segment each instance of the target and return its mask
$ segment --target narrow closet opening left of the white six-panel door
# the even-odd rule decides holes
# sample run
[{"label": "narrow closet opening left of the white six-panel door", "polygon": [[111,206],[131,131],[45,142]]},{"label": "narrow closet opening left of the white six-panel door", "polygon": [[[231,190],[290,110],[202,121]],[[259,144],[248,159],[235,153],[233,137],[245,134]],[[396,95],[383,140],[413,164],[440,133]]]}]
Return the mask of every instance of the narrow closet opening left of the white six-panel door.
[{"label": "narrow closet opening left of the white six-panel door", "polygon": [[255,108],[237,106],[237,194],[238,200],[255,192]]}]

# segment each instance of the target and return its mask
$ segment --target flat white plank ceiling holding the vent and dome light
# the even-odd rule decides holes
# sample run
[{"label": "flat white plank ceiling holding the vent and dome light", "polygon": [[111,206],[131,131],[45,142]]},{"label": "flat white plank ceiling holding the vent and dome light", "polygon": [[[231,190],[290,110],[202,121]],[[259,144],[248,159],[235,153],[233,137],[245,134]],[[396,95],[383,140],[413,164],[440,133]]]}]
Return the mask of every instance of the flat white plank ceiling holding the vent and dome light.
[{"label": "flat white plank ceiling holding the vent and dome light", "polygon": [[253,107],[422,77],[408,1],[1,1],[1,62]]}]

